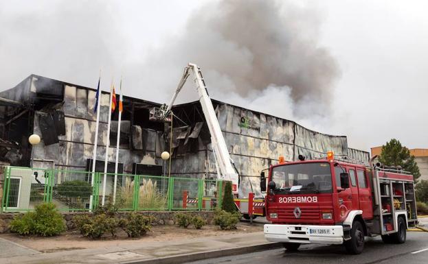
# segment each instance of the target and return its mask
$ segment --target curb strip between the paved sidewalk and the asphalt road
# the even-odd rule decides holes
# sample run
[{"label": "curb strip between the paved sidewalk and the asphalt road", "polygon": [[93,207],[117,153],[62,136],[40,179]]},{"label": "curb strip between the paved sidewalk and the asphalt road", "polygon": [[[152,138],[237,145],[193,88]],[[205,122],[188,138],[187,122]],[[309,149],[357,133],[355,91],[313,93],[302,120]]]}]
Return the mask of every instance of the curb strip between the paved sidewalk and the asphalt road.
[{"label": "curb strip between the paved sidewalk and the asphalt road", "polygon": [[166,256],[159,259],[142,259],[138,261],[123,262],[124,264],[179,264],[191,261],[200,261],[202,259],[212,259],[221,256],[233,256],[238,254],[247,254],[262,250],[271,250],[281,248],[282,243],[262,243],[258,245],[249,245],[240,248],[227,248],[223,250],[211,250],[205,252],[197,252],[192,254],[181,254],[176,256]]}]

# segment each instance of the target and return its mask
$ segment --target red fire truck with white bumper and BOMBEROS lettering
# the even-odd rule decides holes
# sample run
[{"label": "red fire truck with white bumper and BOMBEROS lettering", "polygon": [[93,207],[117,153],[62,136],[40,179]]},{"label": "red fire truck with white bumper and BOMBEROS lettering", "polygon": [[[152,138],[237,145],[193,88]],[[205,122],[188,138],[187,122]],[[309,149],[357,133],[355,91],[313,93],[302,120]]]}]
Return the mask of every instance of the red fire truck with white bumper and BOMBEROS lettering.
[{"label": "red fire truck with white bumper and BOMBEROS lettering", "polygon": [[260,175],[272,223],[264,225],[264,237],[287,250],[302,243],[344,244],[351,254],[363,251],[364,237],[404,243],[406,229],[418,221],[413,176],[399,167],[374,165],[374,158],[369,167],[335,159],[333,152],[319,160],[280,158],[267,178]]}]

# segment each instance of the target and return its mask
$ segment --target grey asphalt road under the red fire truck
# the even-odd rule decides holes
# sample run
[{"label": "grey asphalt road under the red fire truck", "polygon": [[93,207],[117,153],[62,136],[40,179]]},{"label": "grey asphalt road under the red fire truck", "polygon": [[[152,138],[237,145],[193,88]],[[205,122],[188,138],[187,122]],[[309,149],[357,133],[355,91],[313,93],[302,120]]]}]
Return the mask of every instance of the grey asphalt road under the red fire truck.
[{"label": "grey asphalt road under the red fire truck", "polygon": [[[425,250],[425,251],[420,251]],[[420,251],[420,252],[419,252]],[[217,259],[205,259],[191,264],[217,263],[428,263],[428,232],[407,232],[404,244],[385,244],[381,237],[366,238],[363,253],[349,255],[341,245],[302,245],[298,252],[286,252],[284,249],[266,250],[237,256],[225,256]],[[188,263],[190,264],[190,263]]]}]

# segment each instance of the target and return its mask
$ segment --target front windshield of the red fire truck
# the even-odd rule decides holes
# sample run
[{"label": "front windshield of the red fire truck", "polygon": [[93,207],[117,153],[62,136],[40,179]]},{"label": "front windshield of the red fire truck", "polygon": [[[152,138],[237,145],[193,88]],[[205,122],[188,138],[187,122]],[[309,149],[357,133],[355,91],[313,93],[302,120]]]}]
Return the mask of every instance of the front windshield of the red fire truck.
[{"label": "front windshield of the red fire truck", "polygon": [[282,165],[272,169],[275,193],[332,193],[328,163]]}]

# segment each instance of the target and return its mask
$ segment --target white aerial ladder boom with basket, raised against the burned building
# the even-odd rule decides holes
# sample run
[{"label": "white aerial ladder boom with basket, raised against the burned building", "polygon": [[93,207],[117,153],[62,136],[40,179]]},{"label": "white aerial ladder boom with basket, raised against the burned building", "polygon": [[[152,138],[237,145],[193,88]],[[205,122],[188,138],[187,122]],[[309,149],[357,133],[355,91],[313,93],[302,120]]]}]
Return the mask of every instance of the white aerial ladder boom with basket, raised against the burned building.
[{"label": "white aerial ladder boom with basket, raised against the burned building", "polygon": [[[181,77],[179,86],[172,96],[170,104],[168,104],[168,106],[164,104],[160,108],[153,108],[150,110],[150,120],[164,121],[169,118],[172,105],[174,104],[177,95],[181,91],[181,88],[183,88],[191,73],[193,73],[194,82],[196,84],[196,91],[199,95],[199,102],[201,103],[203,115],[205,116],[208,129],[210,130],[211,145],[214,152],[214,158],[216,160],[217,176],[221,180],[232,181],[232,192],[237,194],[238,173],[234,167],[234,161],[232,158],[230,158],[229,152],[227,151],[227,145],[221,132],[220,124],[218,123],[218,119],[216,117],[216,112],[212,106],[210,95],[207,93],[207,88],[205,86],[205,82],[203,81],[201,69],[199,69],[196,64],[189,63],[188,66],[184,68],[183,77]],[[242,192],[240,191],[240,193]]]}]

